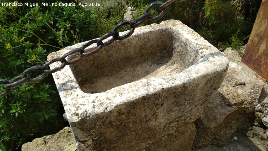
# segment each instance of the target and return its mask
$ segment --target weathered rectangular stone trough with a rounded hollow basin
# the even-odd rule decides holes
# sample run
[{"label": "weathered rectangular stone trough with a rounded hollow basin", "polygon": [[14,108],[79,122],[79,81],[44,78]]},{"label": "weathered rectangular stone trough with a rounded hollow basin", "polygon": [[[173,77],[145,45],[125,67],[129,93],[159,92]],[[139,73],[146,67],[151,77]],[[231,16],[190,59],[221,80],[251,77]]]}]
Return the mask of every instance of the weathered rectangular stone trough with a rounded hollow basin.
[{"label": "weathered rectangular stone trough with a rounded hollow basin", "polygon": [[168,20],[136,28],[131,37],[53,77],[79,151],[177,151],[191,149],[193,121],[204,113],[228,65],[228,57],[195,31]]}]

